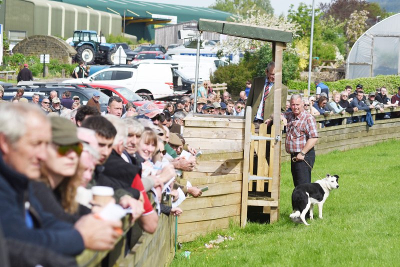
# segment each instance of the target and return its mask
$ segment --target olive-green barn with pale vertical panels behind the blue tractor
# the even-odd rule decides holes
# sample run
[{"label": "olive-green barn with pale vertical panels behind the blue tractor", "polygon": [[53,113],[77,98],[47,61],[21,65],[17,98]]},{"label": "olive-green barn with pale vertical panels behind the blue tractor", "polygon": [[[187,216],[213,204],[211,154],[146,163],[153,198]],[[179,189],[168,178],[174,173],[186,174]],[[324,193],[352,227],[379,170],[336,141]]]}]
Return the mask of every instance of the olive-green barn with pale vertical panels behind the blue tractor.
[{"label": "olive-green barn with pale vertical panels behind the blue tractor", "polygon": [[6,0],[0,7],[0,24],[11,44],[32,35],[72,37],[75,29],[117,35],[121,23],[120,15],[57,1]]}]

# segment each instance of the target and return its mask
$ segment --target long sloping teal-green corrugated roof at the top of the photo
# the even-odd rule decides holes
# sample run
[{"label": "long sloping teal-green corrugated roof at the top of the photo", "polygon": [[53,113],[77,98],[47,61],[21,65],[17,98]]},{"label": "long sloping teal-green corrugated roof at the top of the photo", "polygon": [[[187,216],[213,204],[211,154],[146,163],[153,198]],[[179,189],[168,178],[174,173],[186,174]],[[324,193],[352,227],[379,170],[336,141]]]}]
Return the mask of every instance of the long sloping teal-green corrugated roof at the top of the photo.
[{"label": "long sloping teal-green corrugated roof at the top of the photo", "polygon": [[[137,0],[57,0],[60,2],[85,6],[96,10],[119,13],[123,16],[131,16],[136,18],[152,18],[154,14],[176,16],[176,22],[183,22],[188,20],[198,20],[199,18],[208,18],[216,20],[226,20],[231,13],[206,8],[206,7],[193,7],[177,4],[166,3],[149,3]],[[111,9],[111,10],[110,10]],[[113,12],[115,11],[115,12]],[[162,20],[163,18],[159,18]],[[165,19],[165,18],[164,18]]]}]

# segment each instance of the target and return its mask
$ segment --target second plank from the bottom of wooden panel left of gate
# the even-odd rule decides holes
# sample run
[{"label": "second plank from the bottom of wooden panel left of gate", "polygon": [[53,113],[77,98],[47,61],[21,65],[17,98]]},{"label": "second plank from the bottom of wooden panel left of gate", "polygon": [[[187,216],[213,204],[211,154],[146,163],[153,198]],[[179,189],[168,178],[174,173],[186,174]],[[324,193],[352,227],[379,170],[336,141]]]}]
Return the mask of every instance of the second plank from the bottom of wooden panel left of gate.
[{"label": "second plank from the bottom of wooden panel left of gate", "polygon": [[179,216],[179,223],[210,220],[240,215],[240,204],[187,210]]}]

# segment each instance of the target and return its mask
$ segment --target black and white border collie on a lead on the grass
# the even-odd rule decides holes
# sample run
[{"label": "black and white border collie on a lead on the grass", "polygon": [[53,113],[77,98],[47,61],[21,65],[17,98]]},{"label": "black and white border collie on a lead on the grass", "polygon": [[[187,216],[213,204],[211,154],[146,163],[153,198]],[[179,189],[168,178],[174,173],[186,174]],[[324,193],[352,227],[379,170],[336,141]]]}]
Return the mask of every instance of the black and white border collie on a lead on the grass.
[{"label": "black and white border collie on a lead on the grass", "polygon": [[313,219],[312,210],[315,204],[318,204],[318,215],[321,219],[323,203],[329,196],[330,190],[339,187],[338,179],[339,176],[337,175],[326,174],[323,179],[297,185],[291,193],[291,206],[293,208],[293,213],[289,215],[291,220],[309,225],[305,221],[305,214],[309,210],[309,218]]}]

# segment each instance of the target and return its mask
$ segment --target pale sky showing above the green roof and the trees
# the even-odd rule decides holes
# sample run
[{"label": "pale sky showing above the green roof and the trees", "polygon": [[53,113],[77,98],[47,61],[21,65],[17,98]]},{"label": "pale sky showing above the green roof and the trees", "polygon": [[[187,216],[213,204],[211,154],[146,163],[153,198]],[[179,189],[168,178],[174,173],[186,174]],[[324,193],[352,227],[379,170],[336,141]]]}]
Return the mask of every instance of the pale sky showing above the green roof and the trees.
[{"label": "pale sky showing above the green roof and the trees", "polygon": [[[156,2],[156,3],[170,3],[170,4],[181,4],[181,5],[189,5],[189,6],[199,6],[199,7],[208,7],[213,4],[215,0],[142,0],[143,2]],[[283,13],[287,14],[287,10],[289,10],[290,4],[293,4],[295,8],[297,8],[300,2],[304,2],[307,5],[312,4],[312,0],[270,0],[271,5],[274,9],[275,15],[280,15]],[[330,2],[330,0],[315,0],[315,7],[319,5],[320,2]]]}]

